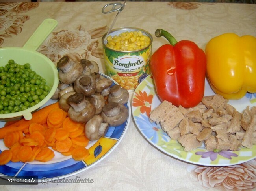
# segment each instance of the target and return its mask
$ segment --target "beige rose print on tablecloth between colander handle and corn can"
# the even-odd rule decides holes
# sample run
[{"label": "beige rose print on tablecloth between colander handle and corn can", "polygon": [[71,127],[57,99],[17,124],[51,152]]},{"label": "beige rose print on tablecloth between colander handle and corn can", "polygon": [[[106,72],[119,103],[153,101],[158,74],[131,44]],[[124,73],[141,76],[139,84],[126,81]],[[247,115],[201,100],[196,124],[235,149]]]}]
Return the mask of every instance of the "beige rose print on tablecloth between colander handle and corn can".
[{"label": "beige rose print on tablecloth between colander handle and corn can", "polygon": [[74,30],[62,29],[53,32],[44,45],[37,51],[44,54],[52,62],[58,62],[64,55],[79,61],[80,59],[91,60],[91,56],[103,59],[103,49],[99,48],[99,40],[108,31],[108,27],[98,27],[86,31],[82,25]]}]

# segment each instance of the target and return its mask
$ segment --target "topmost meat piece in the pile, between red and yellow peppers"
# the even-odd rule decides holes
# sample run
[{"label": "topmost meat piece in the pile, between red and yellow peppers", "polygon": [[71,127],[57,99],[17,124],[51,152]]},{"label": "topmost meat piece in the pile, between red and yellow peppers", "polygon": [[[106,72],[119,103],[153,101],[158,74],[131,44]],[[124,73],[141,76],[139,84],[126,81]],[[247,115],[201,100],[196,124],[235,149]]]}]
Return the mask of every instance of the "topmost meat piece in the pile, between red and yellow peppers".
[{"label": "topmost meat piece in the pile, between red and yellow peppers", "polygon": [[202,103],[208,108],[213,109],[213,111],[217,111],[219,109],[223,109],[228,100],[224,99],[221,95],[214,95],[211,99],[211,96],[206,96],[202,99]]}]

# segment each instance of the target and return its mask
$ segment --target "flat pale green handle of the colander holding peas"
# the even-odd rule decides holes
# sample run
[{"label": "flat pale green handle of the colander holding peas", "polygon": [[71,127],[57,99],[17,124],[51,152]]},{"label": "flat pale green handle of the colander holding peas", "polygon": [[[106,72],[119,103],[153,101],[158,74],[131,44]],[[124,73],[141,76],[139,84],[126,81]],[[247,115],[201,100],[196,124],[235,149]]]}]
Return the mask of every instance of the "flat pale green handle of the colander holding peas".
[{"label": "flat pale green handle of the colander holding peas", "polygon": [[58,22],[56,20],[51,18],[45,19],[30,36],[23,48],[36,51],[57,25]]}]

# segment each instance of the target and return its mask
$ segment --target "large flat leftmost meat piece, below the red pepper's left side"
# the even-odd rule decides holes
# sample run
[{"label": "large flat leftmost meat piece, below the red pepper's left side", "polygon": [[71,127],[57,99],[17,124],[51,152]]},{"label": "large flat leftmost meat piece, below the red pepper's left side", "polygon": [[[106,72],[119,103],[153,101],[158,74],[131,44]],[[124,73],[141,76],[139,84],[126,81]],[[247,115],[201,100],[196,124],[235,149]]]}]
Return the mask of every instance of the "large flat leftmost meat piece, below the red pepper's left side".
[{"label": "large flat leftmost meat piece, below the red pepper's left side", "polygon": [[165,100],[150,112],[150,119],[159,122],[163,131],[170,131],[178,126],[180,121],[184,119],[184,115],[178,107]]}]

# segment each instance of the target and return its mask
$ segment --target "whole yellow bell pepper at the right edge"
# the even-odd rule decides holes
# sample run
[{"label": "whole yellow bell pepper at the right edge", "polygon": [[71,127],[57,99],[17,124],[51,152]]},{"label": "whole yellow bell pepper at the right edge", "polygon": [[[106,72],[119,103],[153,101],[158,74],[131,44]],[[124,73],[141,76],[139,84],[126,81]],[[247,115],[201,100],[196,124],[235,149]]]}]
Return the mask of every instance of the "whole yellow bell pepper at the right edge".
[{"label": "whole yellow bell pepper at the right edge", "polygon": [[256,38],[225,33],[206,45],[206,74],[211,88],[226,99],[256,93]]}]

